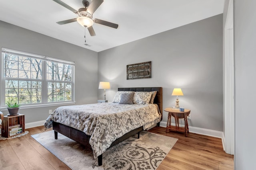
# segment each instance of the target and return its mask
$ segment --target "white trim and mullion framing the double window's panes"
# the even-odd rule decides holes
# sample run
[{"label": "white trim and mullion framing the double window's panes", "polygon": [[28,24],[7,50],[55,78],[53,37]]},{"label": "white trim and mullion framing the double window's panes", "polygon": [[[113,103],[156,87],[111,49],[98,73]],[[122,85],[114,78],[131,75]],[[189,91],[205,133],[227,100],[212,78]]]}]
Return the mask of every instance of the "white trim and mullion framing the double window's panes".
[{"label": "white trim and mullion framing the double window's panes", "polygon": [[[53,62],[58,62],[58,63],[64,63],[64,64],[70,64],[72,65],[72,101],[68,101],[68,102],[46,102],[47,101],[47,95],[45,94],[48,91],[47,86],[43,86],[44,82],[47,81],[46,80],[46,74],[43,74],[42,77],[42,101],[40,104],[25,104],[20,106],[20,109],[28,109],[28,108],[36,108],[36,107],[49,107],[49,106],[62,106],[62,105],[70,105],[70,104],[75,104],[76,102],[74,101],[75,96],[74,96],[74,61],[66,61],[66,60],[62,60],[62,59],[57,59],[57,58],[53,58],[53,57],[48,57],[48,56],[43,56],[43,55],[37,55],[37,54],[33,54],[33,53],[26,53],[23,51],[18,51],[18,50],[13,50],[13,49],[8,49],[8,48],[4,48],[2,47],[2,51],[1,51],[1,61],[3,61],[2,59],[2,52],[6,52],[6,53],[12,53],[12,54],[17,54],[17,55],[22,55],[22,56],[26,56],[26,57],[32,57],[32,58],[36,58],[36,59],[42,59],[42,72],[44,70],[46,70],[46,62],[47,61],[53,61]],[[4,62],[1,62],[1,86],[4,84]],[[46,90],[46,91],[44,91]],[[5,86],[2,86],[2,88],[0,89],[1,94],[5,94]],[[46,95],[46,96],[45,96]],[[0,110],[1,111],[5,111],[7,110],[6,108],[6,104],[4,103],[5,101],[5,95],[1,95],[1,103],[0,105]]]}]

